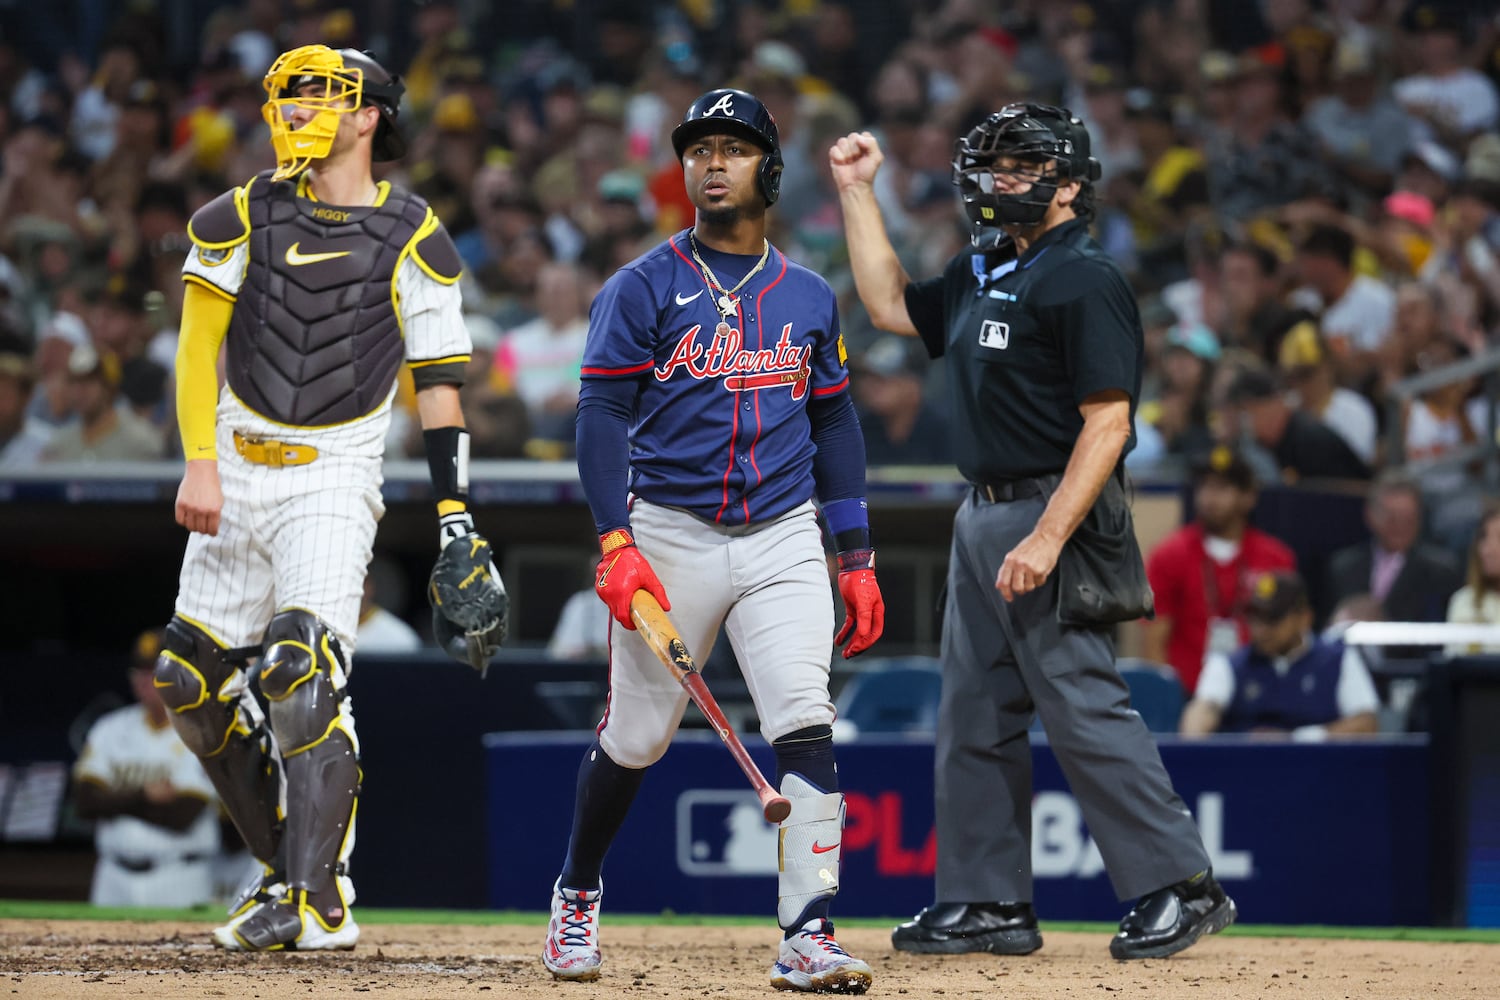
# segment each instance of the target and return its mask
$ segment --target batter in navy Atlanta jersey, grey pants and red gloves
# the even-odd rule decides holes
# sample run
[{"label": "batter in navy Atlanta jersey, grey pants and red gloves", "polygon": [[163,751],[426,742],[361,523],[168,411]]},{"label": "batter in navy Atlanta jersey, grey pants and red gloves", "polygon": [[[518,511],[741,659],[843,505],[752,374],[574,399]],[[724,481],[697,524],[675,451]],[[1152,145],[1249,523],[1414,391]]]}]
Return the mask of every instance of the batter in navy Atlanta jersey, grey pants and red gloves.
[{"label": "batter in navy Atlanta jersey, grey pants and red gloves", "polygon": [[609,702],[579,768],[543,963],[560,979],[598,976],[604,853],[687,706],[634,634],[630,597],[645,589],[694,654],[724,627],[792,801],[771,984],[862,993],[870,967],[838,946],[828,921],[844,810],[814,495],[838,549],[844,657],[879,639],[885,606],[837,304],[824,279],[765,238],[782,153],[758,99],[700,96],[672,145],[696,222],[604,285],[584,349],[578,463],[600,534],[596,589],[615,622]]}]

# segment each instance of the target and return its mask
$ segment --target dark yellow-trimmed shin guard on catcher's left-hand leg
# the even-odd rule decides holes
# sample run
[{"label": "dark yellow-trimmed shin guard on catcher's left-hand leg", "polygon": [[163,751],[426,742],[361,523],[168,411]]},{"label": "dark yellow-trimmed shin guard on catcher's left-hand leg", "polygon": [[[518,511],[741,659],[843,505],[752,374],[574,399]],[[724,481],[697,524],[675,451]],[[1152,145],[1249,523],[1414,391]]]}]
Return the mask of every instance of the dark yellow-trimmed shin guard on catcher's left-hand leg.
[{"label": "dark yellow-trimmed shin guard on catcher's left-hand leg", "polygon": [[154,684],[177,736],[198,756],[244,846],[262,864],[273,864],[285,814],[280,759],[244,670],[201,625],[174,616],[156,658]]}]

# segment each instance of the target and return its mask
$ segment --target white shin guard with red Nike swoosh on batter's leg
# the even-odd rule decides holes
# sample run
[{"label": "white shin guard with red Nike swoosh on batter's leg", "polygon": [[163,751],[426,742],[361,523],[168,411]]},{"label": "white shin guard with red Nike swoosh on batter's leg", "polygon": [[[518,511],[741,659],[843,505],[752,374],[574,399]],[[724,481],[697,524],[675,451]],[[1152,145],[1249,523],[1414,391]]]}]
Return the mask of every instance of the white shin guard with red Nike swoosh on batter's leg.
[{"label": "white shin guard with red Nike swoosh on batter's leg", "polygon": [[776,919],[792,930],[813,900],[838,892],[844,802],[795,772],[782,778],[782,795],[792,801],[792,814],[777,838]]}]

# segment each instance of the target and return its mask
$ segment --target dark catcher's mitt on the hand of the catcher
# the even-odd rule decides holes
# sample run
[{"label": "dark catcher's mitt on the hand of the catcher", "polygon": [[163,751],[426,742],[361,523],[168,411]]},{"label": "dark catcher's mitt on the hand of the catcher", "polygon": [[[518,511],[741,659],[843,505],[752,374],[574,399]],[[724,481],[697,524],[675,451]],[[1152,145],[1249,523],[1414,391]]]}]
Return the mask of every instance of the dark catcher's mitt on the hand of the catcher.
[{"label": "dark catcher's mitt on the hand of the catcher", "polygon": [[483,535],[454,538],[438,556],[428,582],[432,634],[444,652],[480,675],[506,640],[510,597]]}]

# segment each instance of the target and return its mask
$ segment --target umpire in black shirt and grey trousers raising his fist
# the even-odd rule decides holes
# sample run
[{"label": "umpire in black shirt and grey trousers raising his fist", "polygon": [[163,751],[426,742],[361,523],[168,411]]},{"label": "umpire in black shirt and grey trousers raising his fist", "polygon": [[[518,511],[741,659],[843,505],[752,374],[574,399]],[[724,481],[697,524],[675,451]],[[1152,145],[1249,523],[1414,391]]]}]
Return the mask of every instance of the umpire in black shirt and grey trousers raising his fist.
[{"label": "umpire in black shirt and grey trousers raising his fist", "polygon": [[891,934],[910,952],[1023,955],[1032,909],[1030,747],[1040,714],[1120,900],[1114,958],[1158,958],[1234,921],[1192,817],[1114,669],[1110,627],[1150,613],[1124,490],[1142,327],[1089,235],[1098,160],[1064,108],[1008,105],[954,147],[974,250],[912,282],[873,193],[868,132],[830,150],[860,298],[874,325],[950,358],[954,519],[938,726],[936,903]]}]

